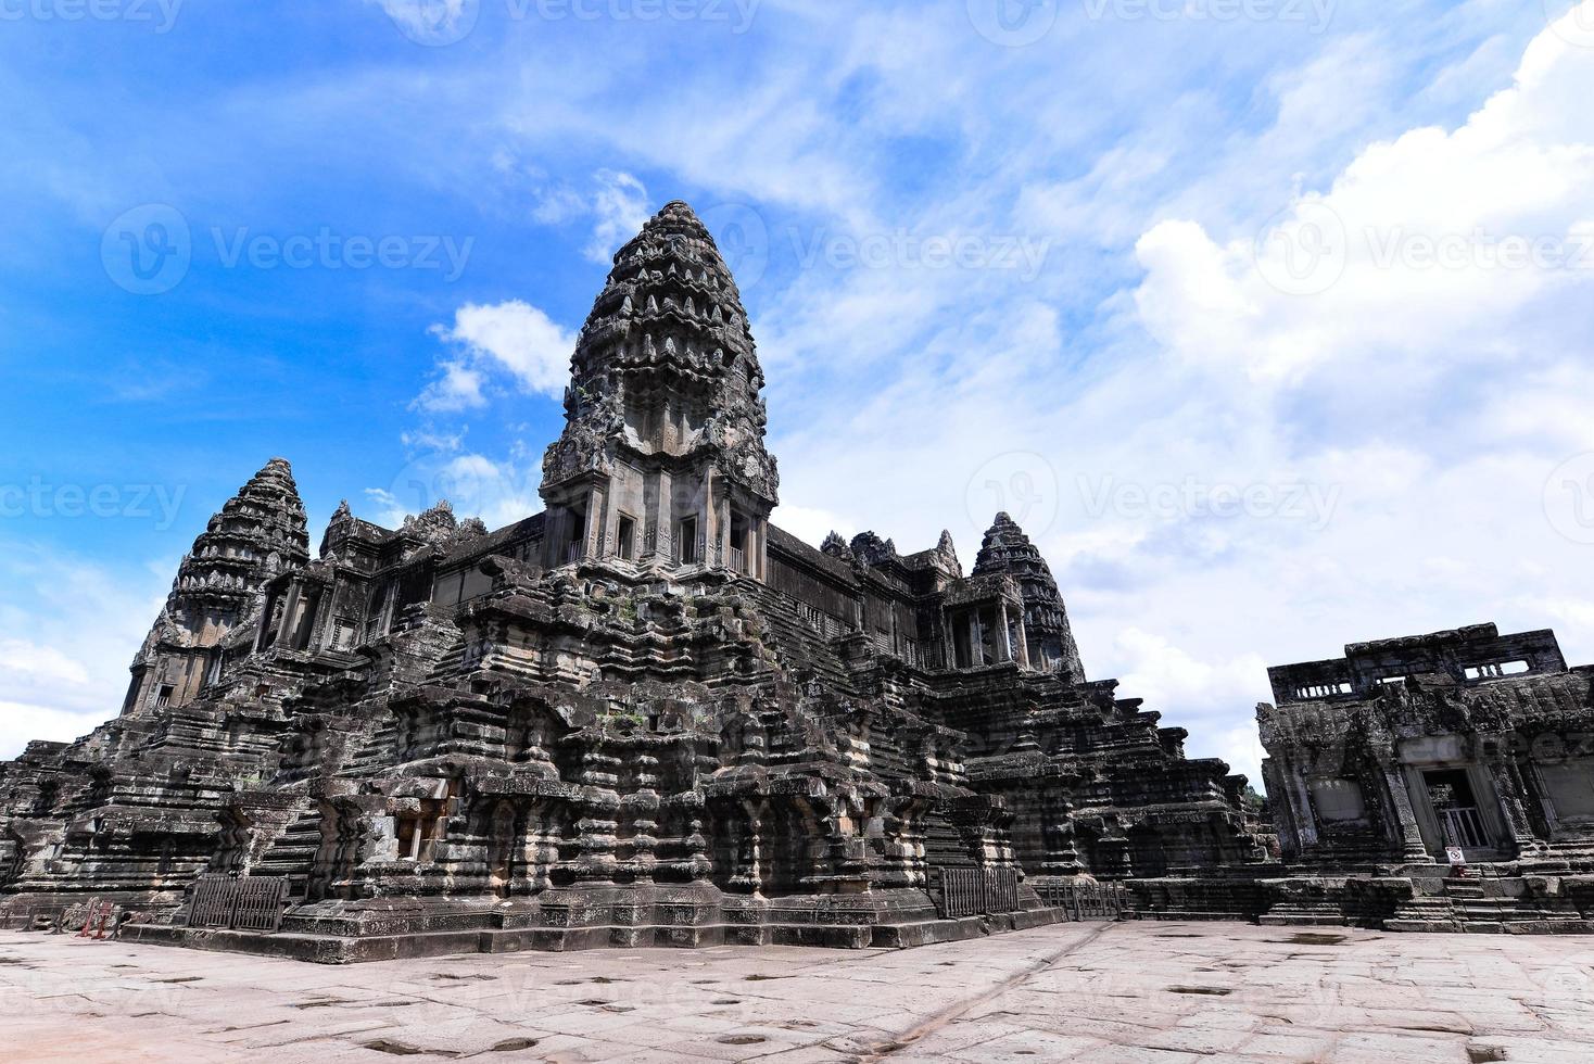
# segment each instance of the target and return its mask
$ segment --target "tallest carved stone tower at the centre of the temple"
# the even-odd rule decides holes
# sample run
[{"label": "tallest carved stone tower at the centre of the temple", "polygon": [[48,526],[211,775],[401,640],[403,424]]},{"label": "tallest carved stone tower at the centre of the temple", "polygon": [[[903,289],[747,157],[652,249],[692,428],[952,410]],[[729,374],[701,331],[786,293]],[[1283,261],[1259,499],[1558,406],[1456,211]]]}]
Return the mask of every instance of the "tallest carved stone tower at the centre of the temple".
[{"label": "tallest carved stone tower at the centre of the temple", "polygon": [[779,478],[764,371],[703,223],[666,204],[614,256],[542,462],[548,565],[765,575]]}]

